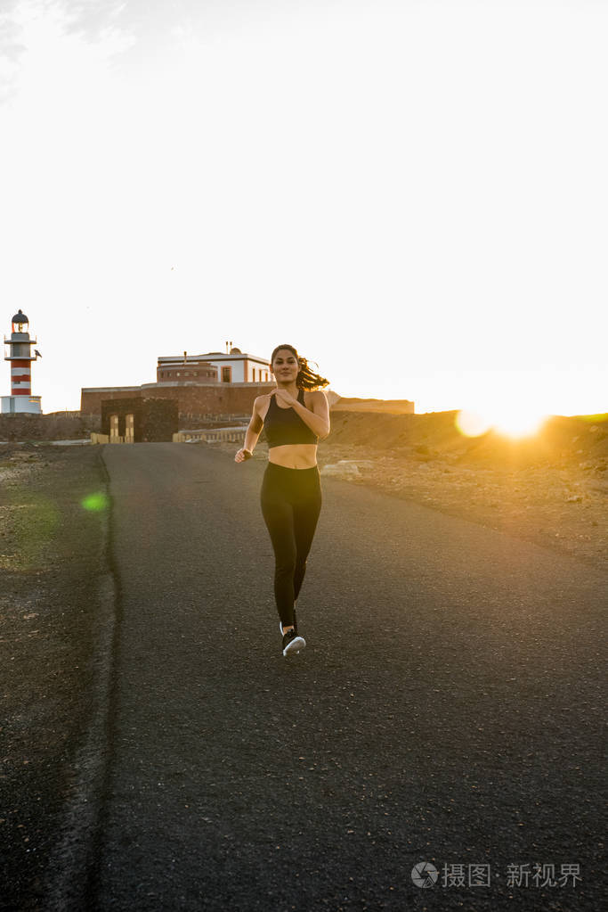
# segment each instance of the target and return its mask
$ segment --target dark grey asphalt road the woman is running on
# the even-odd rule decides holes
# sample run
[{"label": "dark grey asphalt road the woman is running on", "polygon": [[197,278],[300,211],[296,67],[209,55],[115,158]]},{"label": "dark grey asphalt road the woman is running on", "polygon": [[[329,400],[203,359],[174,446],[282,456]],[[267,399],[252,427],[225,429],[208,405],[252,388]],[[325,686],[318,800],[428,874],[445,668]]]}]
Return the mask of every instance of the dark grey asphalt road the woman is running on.
[{"label": "dark grey asphalt road the woman is running on", "polygon": [[599,907],[605,574],[321,476],[308,647],[286,660],[264,462],[104,460],[118,604],[91,907]]}]

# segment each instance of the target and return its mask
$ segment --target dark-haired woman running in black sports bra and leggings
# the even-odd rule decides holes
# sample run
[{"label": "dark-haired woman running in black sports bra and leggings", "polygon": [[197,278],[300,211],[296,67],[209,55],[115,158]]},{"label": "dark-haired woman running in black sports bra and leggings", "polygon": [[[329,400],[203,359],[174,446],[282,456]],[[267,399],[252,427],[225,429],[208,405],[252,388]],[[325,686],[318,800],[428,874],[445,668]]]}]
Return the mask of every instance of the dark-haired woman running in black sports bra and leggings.
[{"label": "dark-haired woman running in black sports bra and leggings", "polygon": [[289,658],[306,646],[295,603],[321,509],[317,441],[329,434],[329,406],[319,387],[329,380],[313,373],[290,345],[275,348],[269,368],[277,388],[255,399],[235,462],[251,459],[263,428],[269,461],[259,499],[275,553],[275,601],[283,655]]}]

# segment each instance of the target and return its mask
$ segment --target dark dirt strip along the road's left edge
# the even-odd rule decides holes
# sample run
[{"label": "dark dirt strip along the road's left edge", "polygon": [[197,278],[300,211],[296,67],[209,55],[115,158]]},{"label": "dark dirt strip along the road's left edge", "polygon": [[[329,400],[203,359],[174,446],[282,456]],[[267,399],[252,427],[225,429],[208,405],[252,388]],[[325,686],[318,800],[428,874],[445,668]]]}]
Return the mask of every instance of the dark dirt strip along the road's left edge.
[{"label": "dark dirt strip along the road's left edge", "polygon": [[66,813],[100,772],[83,751],[106,572],[106,511],[83,502],[105,492],[98,448],[0,447],[3,909],[50,908],[82,848]]}]

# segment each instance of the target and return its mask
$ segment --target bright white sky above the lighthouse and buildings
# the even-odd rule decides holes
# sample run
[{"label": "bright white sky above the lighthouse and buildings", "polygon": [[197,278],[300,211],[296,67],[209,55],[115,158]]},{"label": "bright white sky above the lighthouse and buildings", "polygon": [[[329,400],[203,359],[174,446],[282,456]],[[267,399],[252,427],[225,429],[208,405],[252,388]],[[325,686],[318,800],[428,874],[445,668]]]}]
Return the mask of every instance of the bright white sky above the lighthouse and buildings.
[{"label": "bright white sky above the lighthouse and buildings", "polygon": [[226,340],[419,412],[608,410],[605,0],[0,10],[0,331],[44,411]]}]

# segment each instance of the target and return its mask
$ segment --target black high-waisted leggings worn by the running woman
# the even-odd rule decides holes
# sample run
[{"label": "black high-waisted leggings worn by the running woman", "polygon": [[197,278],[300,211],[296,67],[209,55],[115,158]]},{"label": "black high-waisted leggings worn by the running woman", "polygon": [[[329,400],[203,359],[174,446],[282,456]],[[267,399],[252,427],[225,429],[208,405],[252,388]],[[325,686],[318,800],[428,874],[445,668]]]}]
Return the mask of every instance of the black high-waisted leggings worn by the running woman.
[{"label": "black high-waisted leggings worn by the running woman", "polygon": [[287,469],[269,462],[259,495],[275,553],[275,601],[283,627],[293,624],[293,603],[321,510],[319,466]]}]

